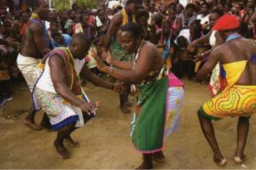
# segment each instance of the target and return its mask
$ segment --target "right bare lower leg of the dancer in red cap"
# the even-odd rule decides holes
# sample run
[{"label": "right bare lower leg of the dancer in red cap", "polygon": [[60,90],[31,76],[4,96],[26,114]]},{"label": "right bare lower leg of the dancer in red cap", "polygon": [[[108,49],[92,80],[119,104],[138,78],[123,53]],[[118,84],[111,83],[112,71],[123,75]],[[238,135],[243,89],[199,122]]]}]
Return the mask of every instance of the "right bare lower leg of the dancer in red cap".
[{"label": "right bare lower leg of the dancer in red cap", "polygon": [[249,131],[249,118],[239,117],[237,122],[237,146],[234,161],[241,163],[245,161],[244,149],[247,144],[247,136]]}]

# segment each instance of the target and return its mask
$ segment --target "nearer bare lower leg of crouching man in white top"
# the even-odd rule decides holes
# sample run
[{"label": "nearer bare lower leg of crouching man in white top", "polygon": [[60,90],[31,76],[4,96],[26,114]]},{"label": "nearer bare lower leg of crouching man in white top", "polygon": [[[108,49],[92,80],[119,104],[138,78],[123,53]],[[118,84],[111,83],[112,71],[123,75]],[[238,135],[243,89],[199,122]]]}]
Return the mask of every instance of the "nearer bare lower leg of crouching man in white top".
[{"label": "nearer bare lower leg of crouching man in white top", "polygon": [[63,144],[63,140],[70,137],[70,134],[73,132],[74,125],[75,125],[75,122],[69,123],[67,126],[59,129],[57,132],[57,138],[55,139],[54,144],[59,156],[62,159],[68,159],[72,157],[70,153],[67,151],[67,149],[65,148]]}]

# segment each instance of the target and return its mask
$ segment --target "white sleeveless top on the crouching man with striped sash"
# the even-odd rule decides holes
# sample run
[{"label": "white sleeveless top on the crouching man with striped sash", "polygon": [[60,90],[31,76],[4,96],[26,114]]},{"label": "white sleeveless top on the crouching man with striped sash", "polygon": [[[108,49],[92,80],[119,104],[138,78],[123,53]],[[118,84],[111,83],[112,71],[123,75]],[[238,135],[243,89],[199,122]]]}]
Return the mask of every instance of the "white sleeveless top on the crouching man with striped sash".
[{"label": "white sleeveless top on the crouching man with striped sash", "polygon": [[[78,74],[82,70],[84,63],[85,63],[85,59],[82,59],[82,60],[75,59],[74,66]],[[39,88],[41,90],[44,90],[53,94],[57,94],[55,91],[55,87],[53,85],[52,79],[50,77],[49,58],[46,59],[44,71],[41,77],[39,77],[38,82],[36,83],[36,88]]]}]

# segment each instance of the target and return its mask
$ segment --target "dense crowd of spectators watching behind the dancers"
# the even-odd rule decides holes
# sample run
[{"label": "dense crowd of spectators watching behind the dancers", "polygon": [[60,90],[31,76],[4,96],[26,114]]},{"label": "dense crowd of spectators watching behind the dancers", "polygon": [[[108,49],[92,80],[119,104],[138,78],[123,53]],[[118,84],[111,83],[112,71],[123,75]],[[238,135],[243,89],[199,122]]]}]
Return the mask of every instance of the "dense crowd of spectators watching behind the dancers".
[{"label": "dense crowd of spectators watching behind the dancers", "polygon": [[[178,0],[171,0],[169,4],[147,2],[138,10],[136,21],[143,26],[144,38],[154,42],[165,57],[166,65],[179,78],[187,76],[193,80],[200,67],[193,62],[194,56],[210,48],[205,43],[196,46],[193,53],[187,49],[189,43],[211,31],[212,11],[219,15],[235,14],[241,22],[241,35],[256,40],[254,0],[201,0],[185,7]],[[90,50],[100,54],[109,23],[121,10],[121,6],[90,9],[76,4],[69,10],[51,10],[48,20],[44,21],[50,48],[67,47],[73,34],[83,31],[93,42]],[[19,10],[0,7],[0,106],[12,99],[14,85],[24,82],[16,66],[16,57],[30,15],[29,7],[20,7]],[[95,62],[90,53],[88,55],[90,69],[96,70]]]}]

